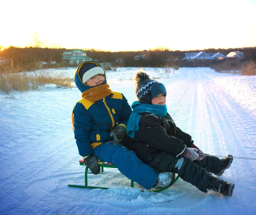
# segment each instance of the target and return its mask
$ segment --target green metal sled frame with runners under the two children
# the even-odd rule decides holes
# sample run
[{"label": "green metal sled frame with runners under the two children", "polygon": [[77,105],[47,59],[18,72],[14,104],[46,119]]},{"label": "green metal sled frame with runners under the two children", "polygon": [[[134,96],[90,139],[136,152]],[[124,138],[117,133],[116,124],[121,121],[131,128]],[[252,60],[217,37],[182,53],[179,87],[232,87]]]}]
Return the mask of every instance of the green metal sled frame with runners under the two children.
[{"label": "green metal sled frame with runners under the two children", "polygon": [[[104,167],[105,168],[116,168],[117,167],[115,165],[113,165],[112,163],[106,163],[104,161],[98,161],[99,163],[99,166],[101,167],[101,172],[104,171]],[[79,161],[79,164],[81,166],[86,166],[86,164],[84,163],[84,160],[81,159]],[[177,176],[175,178],[175,174],[173,174],[173,178],[172,178],[172,183],[170,184],[170,186],[172,186],[172,184],[174,184],[177,180],[178,180],[179,176]],[[74,185],[74,184],[69,184],[68,186],[70,187],[78,187],[78,188],[87,188],[87,189],[97,189],[97,188],[100,188],[100,189],[109,189],[109,187],[102,187],[102,186],[88,186],[88,166],[85,167],[85,171],[84,171],[84,185]],[[152,190],[153,192],[161,192],[167,188],[169,188],[170,186],[168,187],[164,187],[164,188],[161,188],[161,189],[155,189],[155,190]],[[131,180],[131,187],[134,187],[134,181]]]}]

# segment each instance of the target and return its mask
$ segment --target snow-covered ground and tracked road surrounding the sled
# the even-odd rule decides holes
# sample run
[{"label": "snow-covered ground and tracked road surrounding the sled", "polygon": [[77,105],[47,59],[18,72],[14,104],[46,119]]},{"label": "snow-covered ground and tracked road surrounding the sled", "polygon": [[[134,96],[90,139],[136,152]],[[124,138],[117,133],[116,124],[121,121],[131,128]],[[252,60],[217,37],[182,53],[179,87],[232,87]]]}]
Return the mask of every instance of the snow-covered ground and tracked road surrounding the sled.
[{"label": "snow-covered ground and tracked road surrounding the sled", "polygon": [[[256,158],[256,76],[220,74],[209,68],[177,71],[145,68],[167,89],[167,107],[177,126],[211,155]],[[107,71],[113,91],[131,104],[136,69]],[[54,71],[56,72],[56,71]],[[74,69],[60,72],[70,73]],[[116,169],[89,175],[79,189],[84,167],[71,128],[79,90],[49,85],[41,91],[0,93],[0,215],[253,215],[256,211],[256,161],[234,159],[223,178],[236,184],[231,198],[203,193],[179,179],[160,193],[130,188]]]}]

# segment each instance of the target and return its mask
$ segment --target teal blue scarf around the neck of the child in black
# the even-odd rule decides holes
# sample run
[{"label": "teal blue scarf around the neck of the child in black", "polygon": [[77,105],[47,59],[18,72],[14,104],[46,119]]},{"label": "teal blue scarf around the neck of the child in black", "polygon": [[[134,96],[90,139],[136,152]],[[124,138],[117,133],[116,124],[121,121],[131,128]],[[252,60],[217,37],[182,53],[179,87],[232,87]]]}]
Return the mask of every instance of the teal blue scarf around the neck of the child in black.
[{"label": "teal blue scarf around the neck of the child in black", "polygon": [[133,113],[131,114],[126,126],[127,135],[131,138],[134,138],[135,132],[139,130],[140,113],[149,112],[161,117],[165,117],[167,114],[166,105],[144,104],[139,101],[134,101],[131,108],[133,109]]}]

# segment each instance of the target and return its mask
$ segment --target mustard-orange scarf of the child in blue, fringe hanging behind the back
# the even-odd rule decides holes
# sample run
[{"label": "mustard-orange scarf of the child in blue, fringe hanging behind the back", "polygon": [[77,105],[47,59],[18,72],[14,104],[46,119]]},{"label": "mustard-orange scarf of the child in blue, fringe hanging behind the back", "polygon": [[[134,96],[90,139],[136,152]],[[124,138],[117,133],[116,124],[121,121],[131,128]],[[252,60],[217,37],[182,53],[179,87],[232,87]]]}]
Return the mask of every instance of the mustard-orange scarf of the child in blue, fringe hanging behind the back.
[{"label": "mustard-orange scarf of the child in blue, fringe hanging behind the back", "polygon": [[[112,90],[109,88],[109,85],[102,84],[102,85],[92,87],[91,89],[87,89],[86,91],[84,91],[82,93],[82,98],[86,98],[86,99],[94,102],[94,101],[98,101],[102,98],[105,98],[105,97],[111,95],[111,93],[112,93]],[[75,120],[74,120],[73,112],[72,112],[71,119],[72,119],[72,130],[74,131]]]}]

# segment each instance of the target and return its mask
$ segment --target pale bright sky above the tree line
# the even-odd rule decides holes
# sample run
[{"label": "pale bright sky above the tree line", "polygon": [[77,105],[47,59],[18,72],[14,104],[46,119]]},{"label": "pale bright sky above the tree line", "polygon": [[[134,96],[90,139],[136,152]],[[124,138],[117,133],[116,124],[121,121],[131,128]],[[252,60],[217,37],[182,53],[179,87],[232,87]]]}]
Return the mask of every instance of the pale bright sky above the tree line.
[{"label": "pale bright sky above the tree line", "polygon": [[[0,46],[137,51],[256,46],[255,0],[0,0]],[[2,31],[3,30],[3,31]]]}]

